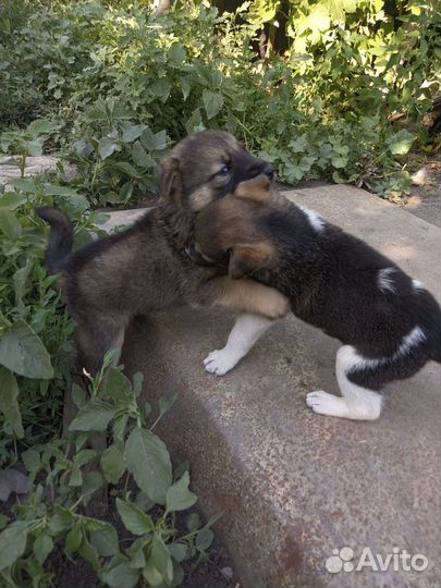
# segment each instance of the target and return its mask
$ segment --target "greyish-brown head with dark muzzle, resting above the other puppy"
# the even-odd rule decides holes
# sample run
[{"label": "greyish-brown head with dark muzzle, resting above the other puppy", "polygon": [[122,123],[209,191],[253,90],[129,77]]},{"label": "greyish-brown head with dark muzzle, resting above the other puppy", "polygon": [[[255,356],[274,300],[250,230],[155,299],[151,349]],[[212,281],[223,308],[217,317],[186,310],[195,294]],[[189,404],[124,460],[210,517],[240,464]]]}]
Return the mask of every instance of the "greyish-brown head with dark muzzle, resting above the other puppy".
[{"label": "greyish-brown head with dark muzzle, resting above the other puppy", "polygon": [[175,206],[199,211],[259,174],[272,180],[274,171],[229,133],[201,131],[181,140],[163,160],[159,189]]}]

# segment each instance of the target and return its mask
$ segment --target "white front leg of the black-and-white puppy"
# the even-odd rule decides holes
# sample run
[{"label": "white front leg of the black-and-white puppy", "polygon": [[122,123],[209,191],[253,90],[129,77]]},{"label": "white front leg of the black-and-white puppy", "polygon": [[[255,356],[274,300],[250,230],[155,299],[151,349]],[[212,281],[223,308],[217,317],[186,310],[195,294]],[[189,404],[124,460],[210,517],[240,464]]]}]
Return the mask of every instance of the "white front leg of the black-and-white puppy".
[{"label": "white front leg of the black-and-white puppy", "polygon": [[223,376],[233,369],[273,322],[260,315],[240,315],[226,345],[222,350],[211,352],[204,359],[205,369],[216,376]]}]

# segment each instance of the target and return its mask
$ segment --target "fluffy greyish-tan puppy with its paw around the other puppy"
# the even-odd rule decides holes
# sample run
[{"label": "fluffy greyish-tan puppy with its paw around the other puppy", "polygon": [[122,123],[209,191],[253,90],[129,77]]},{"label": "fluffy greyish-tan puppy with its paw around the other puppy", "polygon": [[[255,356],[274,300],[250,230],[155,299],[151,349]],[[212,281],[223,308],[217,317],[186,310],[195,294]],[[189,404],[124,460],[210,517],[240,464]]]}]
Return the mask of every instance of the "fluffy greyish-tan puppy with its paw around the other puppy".
[{"label": "fluffy greyish-tan puppy with its paw around the other puppy", "polygon": [[47,264],[77,321],[79,367],[91,373],[105,353],[123,344],[130,320],[179,305],[222,305],[271,318],[289,311],[279,292],[252,280],[233,281],[218,268],[195,266],[185,253],[195,213],[272,168],[231,135],[204,131],[177,144],[162,163],[163,201],[131,229],[72,252],[73,228],[59,209],[40,208],[51,225]]}]

